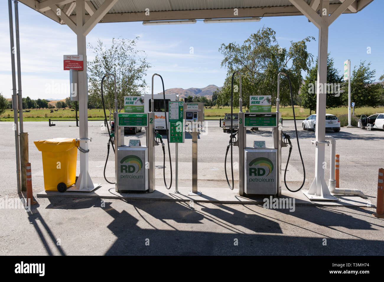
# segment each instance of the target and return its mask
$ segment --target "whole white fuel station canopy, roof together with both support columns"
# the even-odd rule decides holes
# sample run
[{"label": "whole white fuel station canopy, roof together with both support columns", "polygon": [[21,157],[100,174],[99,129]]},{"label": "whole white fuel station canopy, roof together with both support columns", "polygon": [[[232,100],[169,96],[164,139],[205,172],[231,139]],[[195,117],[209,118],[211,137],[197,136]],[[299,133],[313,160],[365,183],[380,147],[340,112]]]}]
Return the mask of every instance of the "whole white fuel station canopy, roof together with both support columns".
[{"label": "whole white fuel station canopy, roof together with both support columns", "polygon": [[[96,188],[88,167],[88,80],[86,35],[98,23],[142,21],[143,24],[259,21],[265,16],[305,15],[319,30],[316,98],[315,177],[306,196],[311,200],[334,200],[324,180],[325,111],[329,26],[343,13],[357,13],[373,0],[20,0],[30,8],[68,25],[77,37],[77,54],[84,57],[78,73],[80,175],[78,191]],[[12,13],[11,13],[12,15]],[[213,20],[212,20],[213,19]],[[215,19],[221,19],[215,20]],[[157,22],[153,22],[157,21]],[[160,22],[159,21],[163,21]],[[164,22],[165,21],[165,22]],[[182,22],[180,22],[182,21]],[[43,29],[44,27],[41,27]],[[293,29],[295,26],[292,27]],[[252,31],[250,31],[252,32]],[[11,43],[12,44],[12,43]],[[11,46],[12,48],[12,46]],[[59,55],[59,54],[58,54]],[[60,54],[61,56],[62,54]],[[276,73],[277,76],[277,73]]]}]

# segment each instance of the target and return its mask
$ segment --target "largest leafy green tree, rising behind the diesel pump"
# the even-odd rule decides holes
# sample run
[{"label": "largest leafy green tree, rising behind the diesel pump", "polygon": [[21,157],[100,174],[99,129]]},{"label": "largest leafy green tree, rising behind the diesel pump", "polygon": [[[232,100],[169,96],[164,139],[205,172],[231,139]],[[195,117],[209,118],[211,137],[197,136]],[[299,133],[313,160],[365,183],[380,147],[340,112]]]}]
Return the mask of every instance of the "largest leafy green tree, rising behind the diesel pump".
[{"label": "largest leafy green tree, rising behind the diesel pump", "polygon": [[[271,95],[272,103],[275,104],[277,74],[281,71],[290,76],[292,91],[296,95],[301,86],[301,71],[308,71],[313,62],[313,56],[308,53],[306,46],[311,40],[314,40],[314,37],[308,36],[298,42],[291,41],[291,46],[287,50],[278,45],[274,30],[263,27],[242,45],[222,44],[219,48],[224,56],[221,66],[225,66],[228,73],[218,94],[217,104],[223,105],[230,101],[232,73],[235,71],[240,71],[242,74],[243,105],[248,108],[250,95]],[[234,76],[233,84],[233,106],[238,107],[238,75]],[[281,77],[280,84],[280,104],[290,104],[287,79]]]}]

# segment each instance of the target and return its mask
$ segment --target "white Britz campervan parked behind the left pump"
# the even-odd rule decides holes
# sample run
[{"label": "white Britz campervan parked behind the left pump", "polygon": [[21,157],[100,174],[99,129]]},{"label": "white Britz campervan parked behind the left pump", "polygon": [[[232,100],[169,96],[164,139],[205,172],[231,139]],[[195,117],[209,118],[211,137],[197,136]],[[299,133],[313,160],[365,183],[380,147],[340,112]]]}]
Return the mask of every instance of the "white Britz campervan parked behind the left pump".
[{"label": "white Britz campervan parked behind the left pump", "polygon": [[[144,94],[144,112],[151,112],[151,94]],[[155,129],[156,130],[165,130],[166,129],[166,118],[169,120],[169,101],[179,101],[179,95],[177,94],[166,94],[166,109],[164,108],[164,96],[163,94],[153,94],[153,107],[155,113]]]}]

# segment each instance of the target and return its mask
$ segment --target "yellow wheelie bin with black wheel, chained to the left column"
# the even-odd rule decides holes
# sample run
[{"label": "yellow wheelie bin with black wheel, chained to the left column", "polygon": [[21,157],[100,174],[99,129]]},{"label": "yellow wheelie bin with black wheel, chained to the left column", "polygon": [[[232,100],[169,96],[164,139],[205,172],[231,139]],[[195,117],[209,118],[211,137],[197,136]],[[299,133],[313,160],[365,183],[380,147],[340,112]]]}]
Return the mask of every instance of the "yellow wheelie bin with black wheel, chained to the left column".
[{"label": "yellow wheelie bin with black wheel, chained to the left column", "polygon": [[43,157],[45,190],[65,192],[76,181],[76,146],[79,146],[79,141],[54,138],[34,143]]}]

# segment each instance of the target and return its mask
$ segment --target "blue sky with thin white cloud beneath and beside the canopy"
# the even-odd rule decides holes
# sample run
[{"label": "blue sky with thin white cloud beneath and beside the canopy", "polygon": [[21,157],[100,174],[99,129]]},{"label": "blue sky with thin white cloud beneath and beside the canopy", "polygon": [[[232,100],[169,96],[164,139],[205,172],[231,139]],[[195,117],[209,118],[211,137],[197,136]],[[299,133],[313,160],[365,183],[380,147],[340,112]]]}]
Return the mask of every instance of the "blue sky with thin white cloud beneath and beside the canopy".
[{"label": "blue sky with thin white cloud beneath and beside the canopy", "polygon": [[[384,1],[374,0],[361,12],[341,15],[329,28],[328,52],[334,58],[340,75],[343,62],[351,59],[351,66],[361,60],[371,61],[376,69],[376,81],[384,74],[383,26]],[[10,41],[8,26],[8,1],[0,2],[0,92],[7,98],[12,95]],[[69,72],[63,70],[63,55],[76,54],[76,36],[66,25],[19,3],[20,49],[23,97],[32,99],[68,97]],[[218,48],[222,43],[243,43],[260,27],[276,31],[282,47],[289,48],[290,41],[314,36],[308,51],[317,56],[318,29],[304,16],[265,17],[252,23],[211,23],[198,21],[190,25],[151,25],[142,22],[101,23],[87,36],[87,43],[96,44],[100,38],[107,46],[112,37],[134,38],[139,36],[138,49],[146,52],[152,68],[146,80],[151,85],[153,73],[164,79],[165,88],[222,86],[227,70],[220,68],[223,59]],[[190,54],[190,47],[194,53]],[[371,47],[371,54],[367,54]],[[93,54],[88,51],[88,60]],[[151,91],[147,88],[147,92]],[[161,81],[155,81],[155,92],[162,91]]]}]

